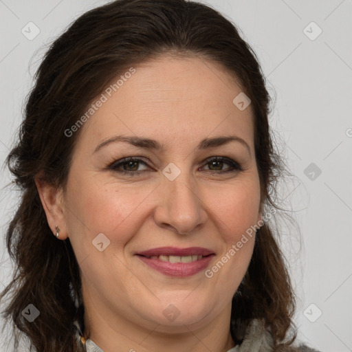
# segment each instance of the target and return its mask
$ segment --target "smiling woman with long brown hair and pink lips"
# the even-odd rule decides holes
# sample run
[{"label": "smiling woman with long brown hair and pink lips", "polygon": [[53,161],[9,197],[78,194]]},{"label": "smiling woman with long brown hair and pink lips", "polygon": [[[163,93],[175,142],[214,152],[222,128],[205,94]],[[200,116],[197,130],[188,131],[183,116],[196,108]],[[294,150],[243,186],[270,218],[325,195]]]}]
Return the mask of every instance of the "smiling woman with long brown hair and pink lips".
[{"label": "smiling woman with long brown hair and pink lips", "polygon": [[313,351],[294,347],[267,223],[283,170],[269,103],[254,52],[206,5],[119,0],[78,18],[8,155],[15,332],[40,352]]}]

